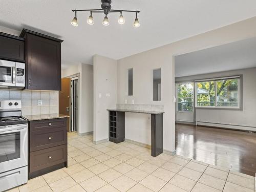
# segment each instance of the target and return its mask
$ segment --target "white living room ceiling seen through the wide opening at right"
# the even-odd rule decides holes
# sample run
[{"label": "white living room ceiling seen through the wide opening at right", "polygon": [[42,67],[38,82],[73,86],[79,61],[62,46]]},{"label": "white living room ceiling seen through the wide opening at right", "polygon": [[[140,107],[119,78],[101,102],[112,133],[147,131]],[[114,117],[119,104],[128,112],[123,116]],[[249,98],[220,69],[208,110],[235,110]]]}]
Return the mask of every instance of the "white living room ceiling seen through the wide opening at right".
[{"label": "white living room ceiling seen through the wide opening at right", "polygon": [[256,37],[175,57],[175,77],[256,67]]}]

